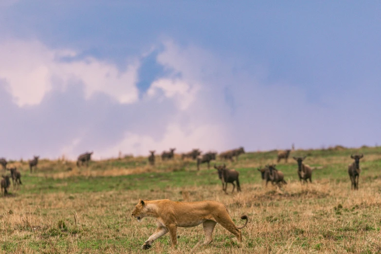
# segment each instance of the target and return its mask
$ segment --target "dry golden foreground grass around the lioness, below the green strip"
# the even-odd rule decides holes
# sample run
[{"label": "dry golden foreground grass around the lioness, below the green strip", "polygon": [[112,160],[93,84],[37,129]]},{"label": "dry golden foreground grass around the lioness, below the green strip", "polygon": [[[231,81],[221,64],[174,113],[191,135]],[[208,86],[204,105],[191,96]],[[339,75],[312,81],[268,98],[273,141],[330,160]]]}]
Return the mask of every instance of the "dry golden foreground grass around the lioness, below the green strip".
[{"label": "dry golden foreground grass around the lioness, below the green strip", "polygon": [[217,226],[212,244],[197,245],[203,240],[202,226],[180,228],[177,248],[170,247],[165,235],[147,253],[377,253],[380,185],[379,180],[368,182],[356,192],[346,183],[321,181],[308,186],[291,182],[281,189],[246,185],[234,195],[223,194],[217,185],[7,197],[0,205],[5,211],[0,216],[0,241],[17,244],[14,253],[144,253],[140,246],[154,232],[155,221],[138,223],[130,212],[139,198],[168,198],[220,201],[236,224],[247,214],[250,222],[242,229],[243,242],[237,244]]}]

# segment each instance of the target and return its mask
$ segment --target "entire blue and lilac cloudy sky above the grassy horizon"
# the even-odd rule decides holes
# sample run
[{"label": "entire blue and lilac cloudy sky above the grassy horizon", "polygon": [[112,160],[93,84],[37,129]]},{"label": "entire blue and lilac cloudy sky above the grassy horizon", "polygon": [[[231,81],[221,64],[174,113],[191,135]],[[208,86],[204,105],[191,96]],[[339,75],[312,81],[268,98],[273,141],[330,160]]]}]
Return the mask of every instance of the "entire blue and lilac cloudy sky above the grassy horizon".
[{"label": "entire blue and lilac cloudy sky above the grassy horizon", "polygon": [[381,144],[381,2],[0,0],[0,157]]}]

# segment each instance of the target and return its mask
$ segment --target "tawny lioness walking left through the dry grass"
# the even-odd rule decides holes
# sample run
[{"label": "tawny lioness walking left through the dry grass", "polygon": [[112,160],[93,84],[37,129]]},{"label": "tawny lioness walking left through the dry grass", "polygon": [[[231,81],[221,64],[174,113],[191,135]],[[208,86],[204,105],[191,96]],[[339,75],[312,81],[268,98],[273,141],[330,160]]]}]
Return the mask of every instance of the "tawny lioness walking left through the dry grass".
[{"label": "tawny lioness walking left through the dry grass", "polygon": [[140,222],[142,218],[154,217],[157,220],[156,232],[149,236],[142,246],[146,250],[157,238],[164,236],[168,231],[171,235],[172,246],[177,244],[177,227],[195,227],[202,223],[204,228],[204,244],[212,242],[212,234],[217,223],[234,234],[238,241],[242,241],[241,231],[249,220],[246,215],[241,219],[246,222],[237,227],[228,214],[226,206],[217,201],[205,200],[200,202],[174,202],[171,200],[139,200],[132,211],[132,216]]}]

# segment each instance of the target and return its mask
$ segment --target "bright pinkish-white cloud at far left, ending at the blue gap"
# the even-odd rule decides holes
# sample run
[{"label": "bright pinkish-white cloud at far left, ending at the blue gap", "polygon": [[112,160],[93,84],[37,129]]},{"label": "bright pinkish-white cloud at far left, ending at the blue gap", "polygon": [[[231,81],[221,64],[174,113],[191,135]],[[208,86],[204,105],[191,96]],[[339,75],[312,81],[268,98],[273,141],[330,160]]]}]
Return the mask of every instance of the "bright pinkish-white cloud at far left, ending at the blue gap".
[{"label": "bright pinkish-white cloud at far left, ending at the blue gap", "polygon": [[0,78],[8,85],[19,107],[37,105],[52,89],[52,80],[64,85],[71,80],[82,83],[86,97],[104,92],[119,103],[138,100],[136,88],[139,62],[134,61],[125,71],[110,63],[86,57],[80,60],[60,61],[73,57],[72,50],[52,50],[38,41],[6,41],[0,43]]}]

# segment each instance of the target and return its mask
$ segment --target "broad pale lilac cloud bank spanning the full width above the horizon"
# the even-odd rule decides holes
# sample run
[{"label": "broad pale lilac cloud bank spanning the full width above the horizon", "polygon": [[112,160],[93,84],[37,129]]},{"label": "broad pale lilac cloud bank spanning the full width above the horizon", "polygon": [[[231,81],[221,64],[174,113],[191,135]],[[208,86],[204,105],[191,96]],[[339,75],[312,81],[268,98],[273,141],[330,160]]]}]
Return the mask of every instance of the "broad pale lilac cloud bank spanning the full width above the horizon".
[{"label": "broad pale lilac cloud bank spanning the full width above the horizon", "polygon": [[269,70],[238,68],[237,59],[169,40],[156,54],[163,70],[146,80],[149,86],[139,96],[143,54],[126,56],[127,67],[120,70],[36,41],[2,42],[0,49],[0,107],[6,119],[0,140],[7,144],[0,155],[7,158],[75,159],[91,150],[94,158],[105,158],[119,150],[147,155],[169,147],[220,152],[241,145],[248,151],[292,143],[374,145],[381,133],[375,110],[381,88],[374,80],[322,93],[319,104],[309,101],[307,89],[270,82],[263,74]]}]

